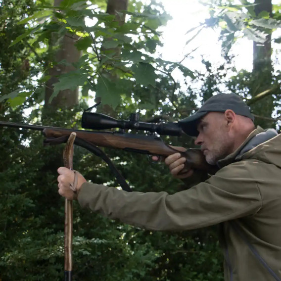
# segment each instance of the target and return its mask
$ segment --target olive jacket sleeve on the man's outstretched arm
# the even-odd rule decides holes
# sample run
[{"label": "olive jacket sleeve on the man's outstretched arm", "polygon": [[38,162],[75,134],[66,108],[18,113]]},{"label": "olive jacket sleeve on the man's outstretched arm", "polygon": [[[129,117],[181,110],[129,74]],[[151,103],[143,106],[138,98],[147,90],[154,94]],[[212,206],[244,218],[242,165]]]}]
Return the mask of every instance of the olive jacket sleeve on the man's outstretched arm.
[{"label": "olive jacket sleeve on the man's outstretched arm", "polygon": [[250,165],[228,165],[187,190],[127,192],[84,183],[78,195],[82,207],[149,230],[191,230],[256,213],[262,206]]}]

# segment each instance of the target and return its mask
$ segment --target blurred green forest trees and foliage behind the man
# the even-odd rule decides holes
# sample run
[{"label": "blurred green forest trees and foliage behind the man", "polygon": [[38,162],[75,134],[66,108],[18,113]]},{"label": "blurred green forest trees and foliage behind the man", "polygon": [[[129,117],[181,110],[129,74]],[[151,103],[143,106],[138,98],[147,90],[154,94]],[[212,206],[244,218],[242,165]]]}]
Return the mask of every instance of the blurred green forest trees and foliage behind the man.
[{"label": "blurred green forest trees and foliage behind the man", "polygon": [[[116,118],[138,111],[142,121],[177,121],[211,95],[233,92],[251,105],[256,125],[279,130],[281,75],[273,54],[281,35],[273,32],[281,27],[280,4],[238,2],[203,1],[210,17],[187,30],[189,42],[202,28],[217,30],[223,62],[202,56],[204,70],[191,71],[188,54],[173,62],[159,53],[160,31],[171,19],[161,1],[0,1],[1,121],[80,129],[83,110],[98,101],[98,111]],[[233,63],[241,37],[253,42],[252,71]],[[187,136],[163,139],[193,145]],[[63,147],[42,147],[38,132],[11,128],[0,128],[0,140],[0,280],[61,280],[64,204],[56,169]],[[146,156],[105,151],[134,190],[186,188]],[[94,183],[117,186],[83,148],[75,148],[74,165]],[[74,280],[223,280],[216,227],[150,232],[74,209]]]}]

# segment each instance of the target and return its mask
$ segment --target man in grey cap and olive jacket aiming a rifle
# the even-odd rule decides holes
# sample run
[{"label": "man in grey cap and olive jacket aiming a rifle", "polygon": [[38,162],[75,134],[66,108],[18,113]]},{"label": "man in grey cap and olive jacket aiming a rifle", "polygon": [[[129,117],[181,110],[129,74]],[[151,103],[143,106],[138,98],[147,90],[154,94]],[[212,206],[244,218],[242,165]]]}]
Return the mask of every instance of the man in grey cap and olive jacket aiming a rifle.
[{"label": "man in grey cap and olive jacket aiming a rifle", "polygon": [[[281,135],[254,128],[248,106],[235,94],[208,99],[179,121],[219,170],[205,182],[169,195],[126,192],[87,183],[78,175],[78,201],[104,216],[150,230],[191,230],[220,224],[225,280],[281,281]],[[178,178],[192,174],[185,158],[166,158]],[[59,168],[59,194],[73,199],[74,173]]]}]

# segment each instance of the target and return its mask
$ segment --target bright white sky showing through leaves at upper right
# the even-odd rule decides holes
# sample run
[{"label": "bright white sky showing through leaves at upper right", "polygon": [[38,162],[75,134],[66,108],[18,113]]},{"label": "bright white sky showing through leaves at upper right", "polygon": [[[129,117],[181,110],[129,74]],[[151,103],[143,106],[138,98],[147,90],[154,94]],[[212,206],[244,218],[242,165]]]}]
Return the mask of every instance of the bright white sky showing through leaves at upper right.
[{"label": "bright white sky showing through leaves at upper right", "polygon": [[[218,42],[219,33],[211,28],[203,29],[198,37],[186,46],[186,42],[194,33],[186,34],[192,27],[198,26],[209,17],[207,7],[194,0],[161,0],[165,10],[173,17],[163,28],[164,47],[161,49],[163,59],[181,61],[187,53],[197,48],[184,60],[183,64],[191,70],[199,70],[201,55],[212,62],[223,61],[221,58],[221,43]],[[241,39],[233,48],[235,66],[237,69],[252,68],[252,43]],[[202,70],[204,68],[202,67]]]}]

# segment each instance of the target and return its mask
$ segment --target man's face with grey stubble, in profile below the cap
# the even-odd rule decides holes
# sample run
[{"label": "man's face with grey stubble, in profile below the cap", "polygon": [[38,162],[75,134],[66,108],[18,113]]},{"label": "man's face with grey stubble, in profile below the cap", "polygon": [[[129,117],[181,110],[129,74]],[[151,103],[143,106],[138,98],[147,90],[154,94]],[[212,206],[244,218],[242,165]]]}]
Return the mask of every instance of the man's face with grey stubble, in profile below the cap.
[{"label": "man's face with grey stubble, in profile below the cap", "polygon": [[224,113],[210,112],[197,125],[199,132],[195,144],[201,145],[206,161],[215,165],[232,153],[233,141],[229,137]]}]

